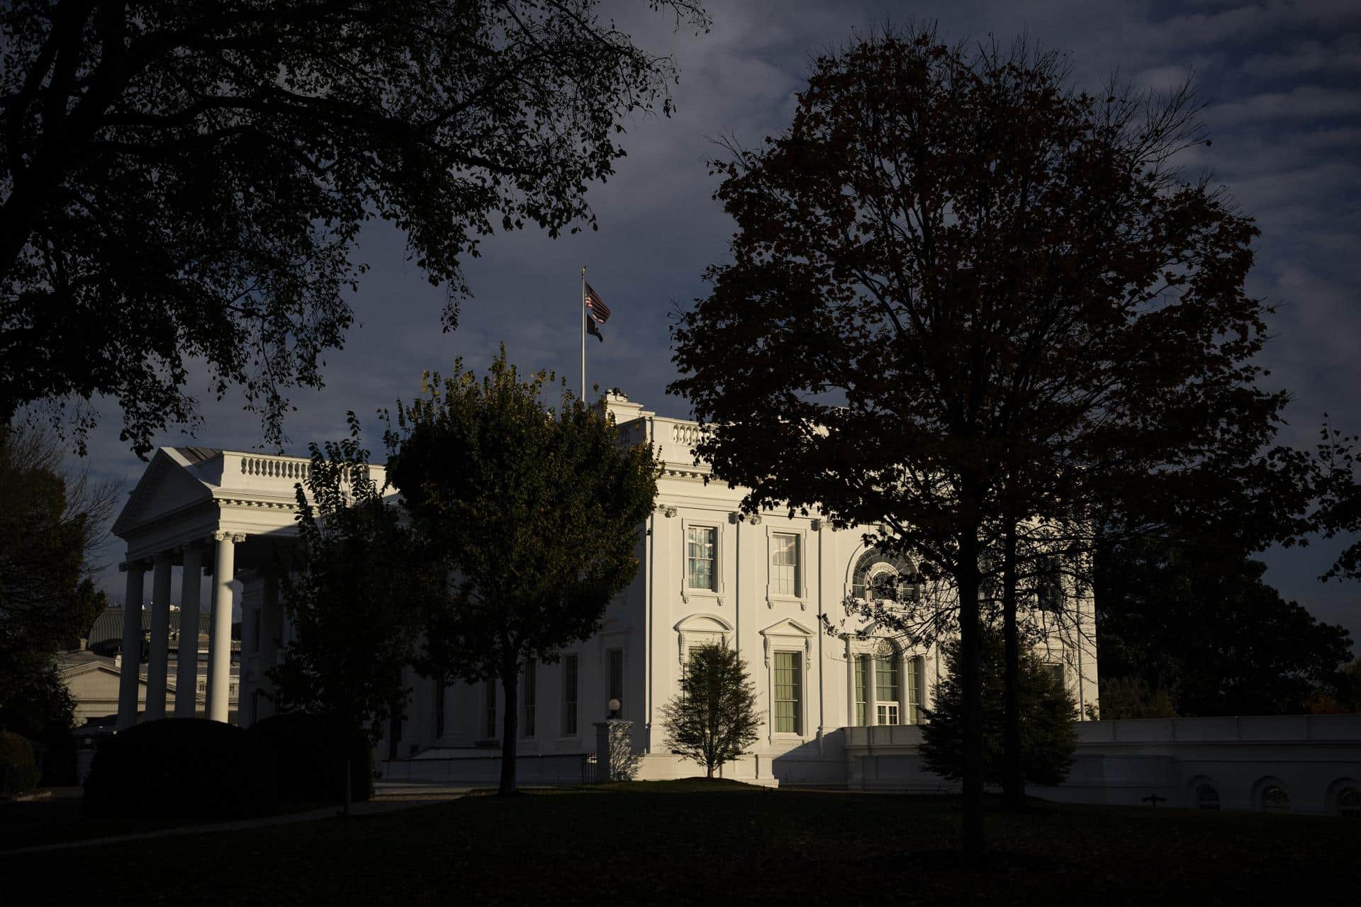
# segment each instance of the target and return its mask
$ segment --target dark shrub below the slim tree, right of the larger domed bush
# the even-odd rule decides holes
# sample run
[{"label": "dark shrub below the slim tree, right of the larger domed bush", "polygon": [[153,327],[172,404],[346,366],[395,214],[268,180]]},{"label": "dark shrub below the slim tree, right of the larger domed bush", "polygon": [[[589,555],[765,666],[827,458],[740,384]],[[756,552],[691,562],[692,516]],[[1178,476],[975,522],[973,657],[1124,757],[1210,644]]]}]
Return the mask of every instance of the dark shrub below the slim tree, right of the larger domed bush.
[{"label": "dark shrub below the slim tree, right of the larger domed bush", "polygon": [[346,755],[350,797],[373,795],[373,745],[363,732],[335,715],[293,713],[250,726],[274,767],[279,798],[287,802],[342,802]]}]

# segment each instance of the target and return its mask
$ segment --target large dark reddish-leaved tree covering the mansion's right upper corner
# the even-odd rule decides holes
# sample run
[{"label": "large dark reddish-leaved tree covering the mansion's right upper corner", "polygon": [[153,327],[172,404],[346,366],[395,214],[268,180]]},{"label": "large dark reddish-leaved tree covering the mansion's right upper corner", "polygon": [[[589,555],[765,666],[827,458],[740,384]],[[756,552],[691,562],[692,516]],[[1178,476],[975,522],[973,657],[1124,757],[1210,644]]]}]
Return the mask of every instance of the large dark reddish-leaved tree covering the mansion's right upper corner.
[{"label": "large dark reddish-leaved tree covering the mansion's right upper corner", "polygon": [[1283,403],[1253,385],[1256,230],[1168,165],[1194,110],[1078,92],[1023,44],[885,31],[819,57],[791,126],[713,165],[738,228],[675,328],[671,390],[744,507],[882,526],[867,543],[953,586],[900,626],[958,624],[973,855],[980,559],[1007,524],[1083,525],[1105,472],[1248,446]]}]

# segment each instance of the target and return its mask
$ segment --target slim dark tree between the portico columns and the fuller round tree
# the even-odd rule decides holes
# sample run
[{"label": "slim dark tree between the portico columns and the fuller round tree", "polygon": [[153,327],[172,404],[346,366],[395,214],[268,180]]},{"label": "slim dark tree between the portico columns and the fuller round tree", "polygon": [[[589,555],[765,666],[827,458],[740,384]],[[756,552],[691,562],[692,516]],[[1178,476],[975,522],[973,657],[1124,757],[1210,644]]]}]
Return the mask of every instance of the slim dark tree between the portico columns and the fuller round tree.
[{"label": "slim dark tree between the portico columns and the fuller round tree", "polygon": [[297,485],[299,545],[280,583],[294,634],[269,676],[280,711],[336,715],[377,741],[382,722],[404,708],[401,672],[442,574],[415,556],[387,484],[370,476],[352,412],[348,422],[350,438],[310,446]]}]

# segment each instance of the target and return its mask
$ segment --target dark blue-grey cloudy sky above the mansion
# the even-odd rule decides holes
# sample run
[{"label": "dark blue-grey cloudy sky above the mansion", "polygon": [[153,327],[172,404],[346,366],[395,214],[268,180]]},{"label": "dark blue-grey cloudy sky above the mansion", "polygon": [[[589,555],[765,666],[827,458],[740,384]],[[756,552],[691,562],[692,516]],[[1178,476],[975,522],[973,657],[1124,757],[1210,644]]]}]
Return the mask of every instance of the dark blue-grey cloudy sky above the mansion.
[{"label": "dark blue-grey cloudy sky above the mansion", "polygon": [[[1312,445],[1324,411],[1339,427],[1361,430],[1361,366],[1354,355],[1361,328],[1357,0],[710,0],[709,8],[713,31],[694,37],[674,33],[671,19],[649,12],[641,0],[606,5],[642,46],[676,57],[676,114],[626,124],[629,156],[617,177],[589,193],[597,233],[489,239],[483,257],[467,262],[475,298],[457,332],[440,332],[442,291],[406,260],[401,235],[384,224],[362,234],[357,257],[372,267],[352,301],[362,324],[346,349],[328,358],[327,388],[295,398],[298,412],[287,423],[290,453],[305,453],[308,441],[340,437],[347,409],[374,426],[376,409],[419,389],[422,369],[448,369],[457,356],[485,367],[499,341],[520,366],[554,369],[576,383],[583,264],[614,310],[604,344],[588,340],[588,379],[619,386],[661,415],[687,415],[683,400],[663,393],[675,375],[668,313],[676,302],[704,294],[700,275],[723,258],[731,233],[710,199],[716,179],[704,166],[715,152],[710,139],[732,133],[746,144],[759,143],[788,122],[811,54],[844,42],[853,30],[885,20],[905,24],[912,16],[936,19],[947,39],[991,33],[1010,41],[1025,31],[1044,48],[1071,54],[1079,87],[1098,90],[1113,71],[1155,88],[1194,73],[1211,101],[1204,120],[1214,144],[1184,163],[1210,170],[1262,228],[1249,290],[1278,306],[1263,364],[1273,386],[1293,393],[1282,438]],[[212,403],[206,381],[191,390],[204,398],[197,443],[260,445],[259,420],[241,412],[240,398]],[[116,408],[101,409],[105,426],[88,466],[125,480],[131,490],[143,464],[117,439]],[[158,443],[186,438],[166,432]],[[1320,541],[1304,551],[1268,552],[1267,579],[1361,638],[1357,585],[1315,579],[1338,547]],[[116,563],[121,545],[114,541],[106,553]],[[114,567],[102,581],[121,598]]]}]

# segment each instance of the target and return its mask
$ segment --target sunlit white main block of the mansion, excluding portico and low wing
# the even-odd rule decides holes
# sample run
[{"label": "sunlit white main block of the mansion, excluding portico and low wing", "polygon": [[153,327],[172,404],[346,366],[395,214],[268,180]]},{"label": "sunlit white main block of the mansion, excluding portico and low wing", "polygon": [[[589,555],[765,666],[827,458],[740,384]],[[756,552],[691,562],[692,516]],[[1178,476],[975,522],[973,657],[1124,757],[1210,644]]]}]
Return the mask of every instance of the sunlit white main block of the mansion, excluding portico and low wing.
[{"label": "sunlit white main block of the mansion, excluding portico and low wing", "polygon": [[[912,575],[915,567],[867,549],[863,530],[837,532],[788,511],[740,514],[743,490],[706,481],[709,468],[694,464],[695,423],[656,416],[618,394],[607,405],[625,443],[655,446],[663,475],[641,533],[638,574],[610,604],[600,631],[565,649],[557,664],[524,669],[521,702],[510,707],[520,710],[517,748],[528,768],[555,764],[546,771],[570,776],[572,760],[553,757],[593,751],[595,722],[618,699],[619,717],[634,722],[640,778],[697,774],[694,763],[668,752],[659,710],[679,691],[689,651],[721,642],[746,661],[764,719],[751,753],[724,772],[845,783],[840,730],[917,723],[945,670],[938,646],[913,646],[847,613],[847,598],[863,596],[879,574]],[[1056,631],[1037,649],[1083,714],[1097,704],[1092,604],[1071,596],[1067,608],[1082,615],[1081,628]],[[436,689],[411,681],[407,721],[382,755],[421,757],[418,772],[474,772],[461,760],[490,756],[499,742],[508,707],[499,685]]]}]

